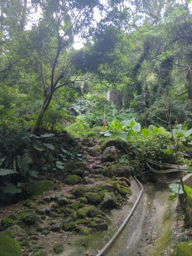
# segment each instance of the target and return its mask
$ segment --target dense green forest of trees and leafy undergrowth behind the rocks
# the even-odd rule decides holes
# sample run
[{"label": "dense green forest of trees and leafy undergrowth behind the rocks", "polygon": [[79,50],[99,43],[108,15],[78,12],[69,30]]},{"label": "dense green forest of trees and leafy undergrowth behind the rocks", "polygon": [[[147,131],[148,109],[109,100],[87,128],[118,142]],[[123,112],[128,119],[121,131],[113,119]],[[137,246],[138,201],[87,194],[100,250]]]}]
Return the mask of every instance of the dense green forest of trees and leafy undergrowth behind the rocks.
[{"label": "dense green forest of trees and leafy undergrowth behind the rocks", "polygon": [[190,0],[0,1],[0,204],[29,198],[39,180],[81,184],[85,151],[103,153],[96,181],[131,180],[146,159],[158,172],[175,165],[168,201],[183,193],[192,225]]}]

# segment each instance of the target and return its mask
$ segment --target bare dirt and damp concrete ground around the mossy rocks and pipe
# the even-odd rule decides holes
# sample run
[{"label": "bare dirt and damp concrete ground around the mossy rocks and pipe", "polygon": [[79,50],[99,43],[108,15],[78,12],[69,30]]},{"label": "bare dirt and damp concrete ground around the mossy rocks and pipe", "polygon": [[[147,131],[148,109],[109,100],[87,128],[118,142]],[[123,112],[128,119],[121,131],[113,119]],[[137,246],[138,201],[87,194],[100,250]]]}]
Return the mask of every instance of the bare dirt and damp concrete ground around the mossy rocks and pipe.
[{"label": "bare dirt and damp concrete ground around the mossy rocks and pipe", "polygon": [[[83,153],[87,155],[86,167],[91,170],[89,177],[87,177],[89,183],[83,185],[78,184],[78,186],[97,187],[105,183],[105,179],[99,172],[100,168],[94,169],[94,166],[102,166],[102,155],[90,156],[87,152],[90,151],[90,148],[97,147],[97,143],[90,144],[92,147],[81,146]],[[104,256],[176,255],[174,254],[174,245],[178,242],[186,241],[187,235],[191,239],[192,234],[192,230],[182,229],[183,213],[178,213],[176,210],[177,201],[166,204],[170,195],[168,185],[176,180],[175,178],[158,176],[157,183],[144,183],[143,195],[135,212],[112,246],[103,254]],[[66,183],[61,183],[60,185],[61,189],[59,191],[44,192],[43,195],[38,196],[37,201],[55,195],[68,196],[69,189],[77,186],[69,186]],[[38,228],[32,227],[34,231],[33,237],[36,236],[37,239],[32,238],[31,252],[27,245],[23,246],[23,255],[55,255],[52,248],[56,244],[62,244],[63,251],[58,253],[60,256],[95,256],[115,234],[132,209],[140,189],[135,180],[132,180],[130,188],[132,195],[126,197],[120,209],[112,209],[109,213],[105,213],[108,224],[107,230],[99,230],[88,236],[80,236],[74,231],[66,232],[60,228],[57,231],[50,231],[50,227],[62,222],[62,217],[50,218],[50,216],[46,216],[42,220],[40,227],[45,228],[49,232],[41,233]],[[51,204],[50,202],[46,207],[51,207]],[[11,213],[19,215],[23,209],[25,209],[23,202],[2,207],[0,209],[0,219]],[[20,234],[17,234],[15,239],[20,241],[20,237],[26,235],[27,230],[20,229]]]}]

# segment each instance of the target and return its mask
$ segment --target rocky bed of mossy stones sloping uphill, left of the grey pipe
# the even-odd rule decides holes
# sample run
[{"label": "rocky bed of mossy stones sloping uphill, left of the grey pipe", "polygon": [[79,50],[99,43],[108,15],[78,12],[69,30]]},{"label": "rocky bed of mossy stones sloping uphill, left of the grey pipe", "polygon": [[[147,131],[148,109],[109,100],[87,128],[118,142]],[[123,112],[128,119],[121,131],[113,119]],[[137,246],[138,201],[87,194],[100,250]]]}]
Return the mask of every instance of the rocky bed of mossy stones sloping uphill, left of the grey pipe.
[{"label": "rocky bed of mossy stones sloping uphill, left of the grey pipe", "polygon": [[[112,172],[115,169],[118,172],[117,166],[110,172],[103,171],[115,163],[115,146],[106,146],[103,154],[100,154],[97,142],[84,140],[82,144],[86,162],[66,162],[64,172],[70,172],[70,175],[66,182],[54,184],[54,188],[60,190],[34,195],[24,202],[0,209],[0,256],[6,256],[6,253],[13,256],[59,253],[63,256],[91,256],[97,253],[97,248],[89,253],[86,248],[94,237],[98,233],[104,234],[106,230],[113,232],[109,228],[110,212],[113,208],[117,211],[123,201],[128,200],[132,193],[130,180],[126,177],[109,177],[114,175]],[[39,191],[37,184],[42,188],[48,184],[52,186],[52,181],[37,181],[34,187]],[[3,247],[4,239],[10,240],[9,244],[13,245],[11,252],[11,246]],[[72,241],[75,241],[77,248],[82,248],[81,251],[78,249],[80,254],[69,253],[74,247]],[[14,244],[17,244],[17,248]]]}]

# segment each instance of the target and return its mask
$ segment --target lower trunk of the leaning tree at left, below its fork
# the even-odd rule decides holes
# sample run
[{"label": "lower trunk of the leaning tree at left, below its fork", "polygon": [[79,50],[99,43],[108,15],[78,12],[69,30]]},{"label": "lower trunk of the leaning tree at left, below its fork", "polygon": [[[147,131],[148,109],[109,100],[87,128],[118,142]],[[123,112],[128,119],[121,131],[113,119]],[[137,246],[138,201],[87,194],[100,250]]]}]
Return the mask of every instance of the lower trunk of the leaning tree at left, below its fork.
[{"label": "lower trunk of the leaning tree at left, below its fork", "polygon": [[43,123],[43,117],[44,117],[45,112],[46,112],[46,110],[47,110],[47,108],[49,106],[49,103],[52,100],[52,95],[53,95],[53,93],[49,93],[49,95],[45,98],[45,100],[43,102],[43,106],[42,106],[42,108],[39,111],[37,121],[32,126],[32,133],[33,134],[38,134],[41,131],[42,123]]}]

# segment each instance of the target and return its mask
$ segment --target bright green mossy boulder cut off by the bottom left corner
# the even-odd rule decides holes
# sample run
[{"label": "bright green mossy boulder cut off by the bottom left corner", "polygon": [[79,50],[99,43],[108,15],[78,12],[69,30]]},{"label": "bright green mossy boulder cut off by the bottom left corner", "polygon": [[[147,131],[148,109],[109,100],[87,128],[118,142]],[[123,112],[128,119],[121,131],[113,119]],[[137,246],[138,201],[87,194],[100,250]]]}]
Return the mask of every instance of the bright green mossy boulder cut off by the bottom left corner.
[{"label": "bright green mossy boulder cut off by the bottom left corner", "polygon": [[21,245],[8,235],[0,236],[0,256],[22,256]]}]

